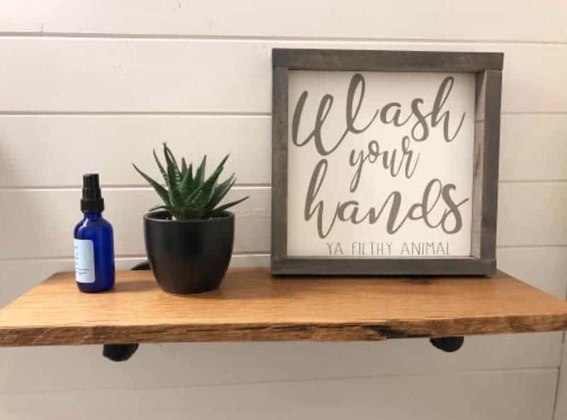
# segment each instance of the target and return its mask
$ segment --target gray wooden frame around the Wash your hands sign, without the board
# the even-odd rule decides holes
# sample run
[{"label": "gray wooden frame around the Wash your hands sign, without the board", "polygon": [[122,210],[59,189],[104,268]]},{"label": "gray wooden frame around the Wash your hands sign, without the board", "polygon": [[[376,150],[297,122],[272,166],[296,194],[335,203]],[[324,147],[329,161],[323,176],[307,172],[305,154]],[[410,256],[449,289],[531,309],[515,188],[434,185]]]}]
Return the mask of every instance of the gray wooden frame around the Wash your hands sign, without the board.
[{"label": "gray wooden frame around the Wash your hands sign, without the board", "polygon": [[[273,49],[272,65],[272,274],[488,275],[495,272],[502,53]],[[287,83],[290,70],[476,74],[470,257],[335,259],[287,255]]]}]

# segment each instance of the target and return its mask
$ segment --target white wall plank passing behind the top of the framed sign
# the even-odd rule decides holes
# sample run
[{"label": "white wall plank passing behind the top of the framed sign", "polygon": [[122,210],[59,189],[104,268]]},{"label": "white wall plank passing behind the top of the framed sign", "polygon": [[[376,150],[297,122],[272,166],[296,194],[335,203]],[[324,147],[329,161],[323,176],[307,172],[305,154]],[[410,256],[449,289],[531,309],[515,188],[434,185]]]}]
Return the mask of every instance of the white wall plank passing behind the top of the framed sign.
[{"label": "white wall plank passing behind the top of the framed sign", "polygon": [[503,112],[567,112],[567,45],[59,37],[0,39],[0,112],[271,112],[273,47],[502,51]]}]

